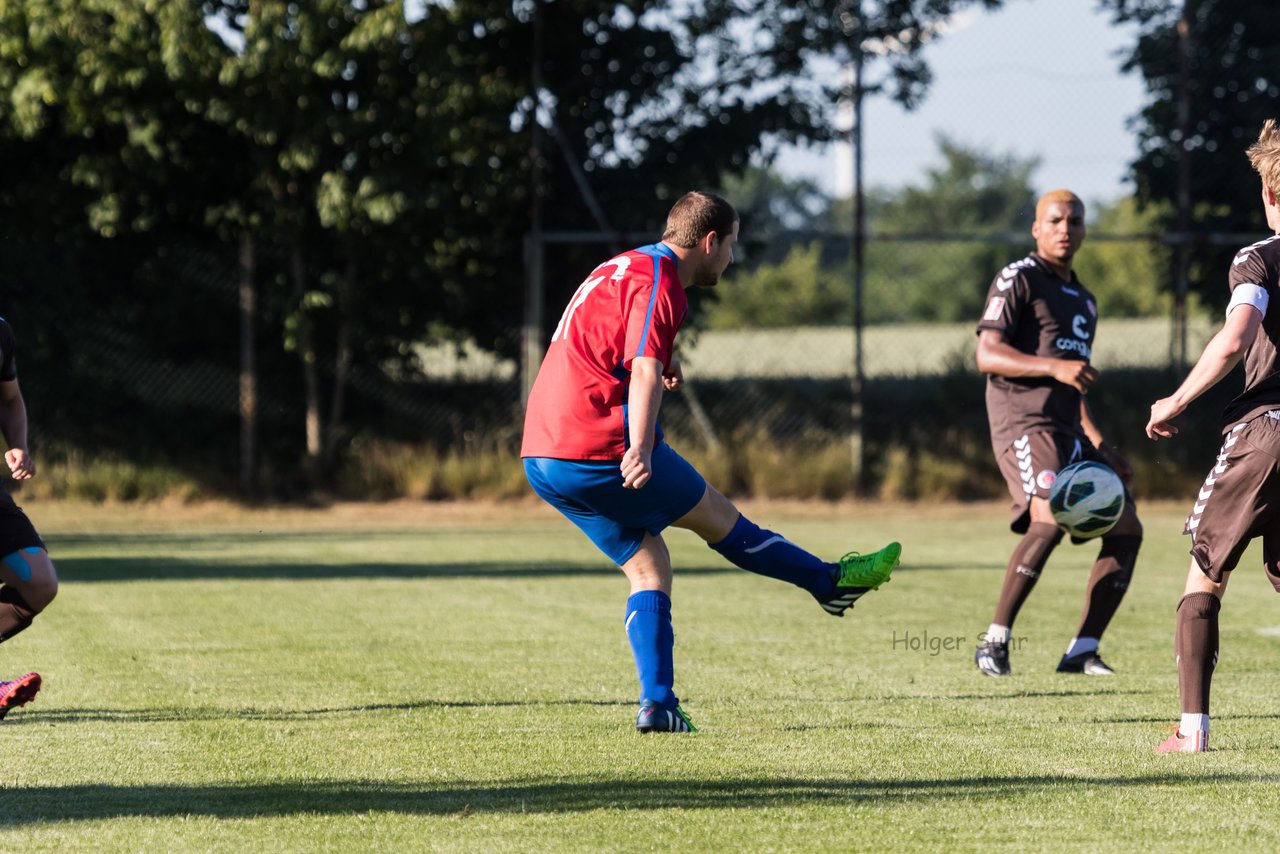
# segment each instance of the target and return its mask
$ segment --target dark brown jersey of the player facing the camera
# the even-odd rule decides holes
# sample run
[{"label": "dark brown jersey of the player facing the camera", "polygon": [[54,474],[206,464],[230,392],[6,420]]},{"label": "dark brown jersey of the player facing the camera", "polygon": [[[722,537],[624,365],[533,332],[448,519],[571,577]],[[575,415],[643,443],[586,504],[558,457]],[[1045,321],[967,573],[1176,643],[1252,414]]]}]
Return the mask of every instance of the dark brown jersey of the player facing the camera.
[{"label": "dark brown jersey of the player facing the camera", "polygon": [[[1098,303],[1071,274],[1065,282],[1042,257],[1014,261],[991,283],[978,332],[993,329],[1029,356],[1089,361],[1098,325]],[[1084,438],[1080,393],[1051,376],[987,376],[991,447],[1000,456],[1028,433],[1066,433]]]}]

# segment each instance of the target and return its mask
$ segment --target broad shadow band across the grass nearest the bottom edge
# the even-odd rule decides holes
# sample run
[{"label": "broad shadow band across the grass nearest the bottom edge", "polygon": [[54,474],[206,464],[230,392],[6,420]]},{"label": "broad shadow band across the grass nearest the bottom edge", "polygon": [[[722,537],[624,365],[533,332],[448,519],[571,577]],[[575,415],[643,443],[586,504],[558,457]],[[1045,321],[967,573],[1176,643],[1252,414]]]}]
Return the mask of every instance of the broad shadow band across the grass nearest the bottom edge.
[{"label": "broad shadow band across the grass nearest the bottom edge", "polygon": [[1153,773],[1140,776],[995,776],[928,780],[522,780],[512,782],[394,784],[358,780],[211,785],[76,785],[3,790],[0,827],[116,817],[210,816],[251,818],[390,812],[416,816],[584,813],[590,810],[776,809],[813,804],[882,805],[940,799],[1007,800],[1096,787],[1276,784],[1280,775]]}]

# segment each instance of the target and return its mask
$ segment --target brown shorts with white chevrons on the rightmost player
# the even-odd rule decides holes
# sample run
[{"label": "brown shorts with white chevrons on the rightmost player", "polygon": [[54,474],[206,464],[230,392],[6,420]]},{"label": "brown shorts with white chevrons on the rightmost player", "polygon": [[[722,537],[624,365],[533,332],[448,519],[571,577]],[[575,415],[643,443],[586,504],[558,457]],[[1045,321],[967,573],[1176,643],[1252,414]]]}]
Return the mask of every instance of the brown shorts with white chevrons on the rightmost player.
[{"label": "brown shorts with white chevrons on the rightmost player", "polygon": [[1266,414],[1231,428],[1183,533],[1192,535],[1196,565],[1216,583],[1261,536],[1267,579],[1280,590],[1280,420]]}]

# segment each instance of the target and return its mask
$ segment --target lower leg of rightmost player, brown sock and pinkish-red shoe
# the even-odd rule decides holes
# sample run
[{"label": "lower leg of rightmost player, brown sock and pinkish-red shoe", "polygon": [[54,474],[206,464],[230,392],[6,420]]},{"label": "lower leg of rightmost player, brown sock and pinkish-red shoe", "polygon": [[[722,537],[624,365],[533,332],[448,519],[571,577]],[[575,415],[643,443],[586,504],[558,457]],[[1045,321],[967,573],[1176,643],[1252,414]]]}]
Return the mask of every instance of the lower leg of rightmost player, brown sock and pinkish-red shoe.
[{"label": "lower leg of rightmost player, brown sock and pinkish-red shoe", "polygon": [[1178,730],[1156,748],[1160,753],[1201,753],[1208,749],[1208,693],[1217,666],[1217,615],[1229,574],[1213,581],[1192,560],[1178,603],[1174,653],[1178,657]]}]

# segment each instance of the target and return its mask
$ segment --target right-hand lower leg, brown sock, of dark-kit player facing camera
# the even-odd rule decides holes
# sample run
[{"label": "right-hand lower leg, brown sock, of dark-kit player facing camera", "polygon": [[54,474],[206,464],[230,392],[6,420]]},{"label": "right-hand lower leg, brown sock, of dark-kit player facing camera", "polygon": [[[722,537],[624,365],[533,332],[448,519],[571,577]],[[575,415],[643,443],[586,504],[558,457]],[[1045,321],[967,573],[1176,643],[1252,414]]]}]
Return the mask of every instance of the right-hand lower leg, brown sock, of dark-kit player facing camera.
[{"label": "right-hand lower leg, brown sock, of dark-kit player facing camera", "polygon": [[1060,673],[1115,675],[1115,671],[1098,656],[1098,643],[1129,589],[1140,547],[1142,522],[1138,521],[1138,512],[1133,504],[1126,504],[1120,521],[1102,536],[1098,560],[1093,563],[1089,584],[1084,592],[1080,626],[1057,665]]}]

